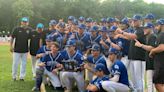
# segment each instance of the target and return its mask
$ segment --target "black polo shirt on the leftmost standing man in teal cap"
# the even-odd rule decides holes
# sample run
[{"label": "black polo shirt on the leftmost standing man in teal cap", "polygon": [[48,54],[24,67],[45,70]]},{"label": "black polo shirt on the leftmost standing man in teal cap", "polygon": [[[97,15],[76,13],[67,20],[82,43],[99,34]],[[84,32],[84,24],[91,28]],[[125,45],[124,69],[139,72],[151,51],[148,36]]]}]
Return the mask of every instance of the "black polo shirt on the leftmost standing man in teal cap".
[{"label": "black polo shirt on the leftmost standing man in teal cap", "polygon": [[28,52],[28,39],[31,31],[32,28],[30,27],[16,27],[13,29],[11,36],[15,38],[14,52]]}]

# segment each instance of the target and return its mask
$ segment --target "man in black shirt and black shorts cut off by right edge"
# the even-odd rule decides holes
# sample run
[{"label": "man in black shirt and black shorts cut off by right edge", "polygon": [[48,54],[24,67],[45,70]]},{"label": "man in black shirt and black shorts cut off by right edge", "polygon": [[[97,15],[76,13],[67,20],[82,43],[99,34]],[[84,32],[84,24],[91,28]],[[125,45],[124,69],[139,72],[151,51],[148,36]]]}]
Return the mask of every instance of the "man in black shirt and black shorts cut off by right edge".
[{"label": "man in black shirt and black shorts cut off by right edge", "polygon": [[154,57],[154,76],[153,82],[158,92],[164,92],[164,19],[157,21],[158,36],[157,47],[149,53],[150,57]]}]

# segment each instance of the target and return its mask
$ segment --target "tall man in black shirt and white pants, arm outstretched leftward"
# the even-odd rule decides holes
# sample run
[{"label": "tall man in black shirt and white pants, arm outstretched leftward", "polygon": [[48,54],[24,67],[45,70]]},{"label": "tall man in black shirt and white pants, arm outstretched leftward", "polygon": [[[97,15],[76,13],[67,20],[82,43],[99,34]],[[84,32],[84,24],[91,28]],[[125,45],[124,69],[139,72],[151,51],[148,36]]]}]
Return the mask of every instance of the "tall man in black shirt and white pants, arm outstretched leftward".
[{"label": "tall man in black shirt and white pants, arm outstretched leftward", "polygon": [[135,40],[145,44],[146,37],[141,23],[142,17],[140,15],[134,15],[132,18],[134,33],[127,33],[120,29],[117,30],[118,33],[123,34],[131,41],[128,59],[130,60],[131,80],[137,92],[144,92],[145,50],[135,46]]}]

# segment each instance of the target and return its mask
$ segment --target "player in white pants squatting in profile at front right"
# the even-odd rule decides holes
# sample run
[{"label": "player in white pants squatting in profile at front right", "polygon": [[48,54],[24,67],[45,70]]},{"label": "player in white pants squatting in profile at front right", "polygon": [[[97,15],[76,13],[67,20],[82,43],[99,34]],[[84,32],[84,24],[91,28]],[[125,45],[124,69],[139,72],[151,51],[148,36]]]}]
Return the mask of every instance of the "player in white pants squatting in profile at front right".
[{"label": "player in white pants squatting in profile at front right", "polygon": [[110,69],[110,79],[102,82],[102,88],[107,92],[129,92],[128,73],[125,65],[118,58],[120,51],[109,50],[109,60],[113,63]]}]

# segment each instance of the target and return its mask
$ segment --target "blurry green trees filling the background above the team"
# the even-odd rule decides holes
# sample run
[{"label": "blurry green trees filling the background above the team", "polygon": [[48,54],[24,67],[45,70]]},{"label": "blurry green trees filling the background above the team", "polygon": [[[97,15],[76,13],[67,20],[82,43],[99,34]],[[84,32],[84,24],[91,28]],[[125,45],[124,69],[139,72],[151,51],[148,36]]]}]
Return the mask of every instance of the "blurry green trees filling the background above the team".
[{"label": "blurry green trees filling the background above the team", "polygon": [[0,0],[0,31],[11,31],[23,16],[30,18],[30,25],[38,22],[48,25],[50,19],[69,15],[84,16],[100,20],[102,17],[132,17],[133,14],[153,13],[164,17],[164,5],[143,0]]}]

